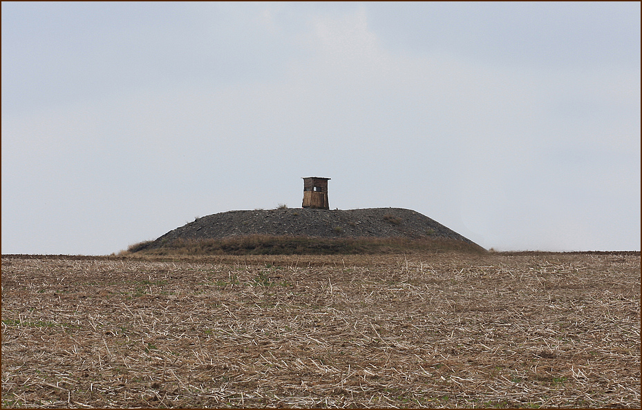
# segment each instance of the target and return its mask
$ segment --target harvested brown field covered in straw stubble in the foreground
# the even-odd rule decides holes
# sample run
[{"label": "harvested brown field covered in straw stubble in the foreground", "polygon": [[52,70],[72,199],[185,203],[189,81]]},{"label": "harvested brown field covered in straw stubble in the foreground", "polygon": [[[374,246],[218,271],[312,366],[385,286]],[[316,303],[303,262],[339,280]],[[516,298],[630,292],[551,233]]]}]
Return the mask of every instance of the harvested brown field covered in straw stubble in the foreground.
[{"label": "harvested brown field covered in straw stubble in the foreground", "polygon": [[2,257],[3,407],[640,407],[640,254]]}]

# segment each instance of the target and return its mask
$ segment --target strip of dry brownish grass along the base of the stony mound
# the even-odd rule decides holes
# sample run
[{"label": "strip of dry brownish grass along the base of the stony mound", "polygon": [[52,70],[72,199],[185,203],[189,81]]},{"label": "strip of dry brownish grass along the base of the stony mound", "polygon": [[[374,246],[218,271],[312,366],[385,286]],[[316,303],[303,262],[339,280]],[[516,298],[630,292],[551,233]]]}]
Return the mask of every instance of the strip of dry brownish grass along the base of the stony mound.
[{"label": "strip of dry brownish grass along the base of the stony mound", "polygon": [[177,239],[162,248],[151,248],[150,242],[129,246],[131,253],[147,255],[334,255],[406,253],[412,251],[465,251],[485,253],[476,244],[444,238],[408,239],[380,238],[327,238],[249,235],[224,239]]}]

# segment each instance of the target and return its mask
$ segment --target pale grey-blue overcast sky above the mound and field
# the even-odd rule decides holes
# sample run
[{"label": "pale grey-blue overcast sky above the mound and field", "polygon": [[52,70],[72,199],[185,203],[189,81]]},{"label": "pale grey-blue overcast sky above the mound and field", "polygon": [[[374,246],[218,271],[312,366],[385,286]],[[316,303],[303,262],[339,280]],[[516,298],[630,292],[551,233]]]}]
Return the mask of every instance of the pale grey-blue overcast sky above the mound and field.
[{"label": "pale grey-blue overcast sky above the mound and field", "polygon": [[640,3],[2,2],[2,253],[197,216],[410,208],[640,250]]}]

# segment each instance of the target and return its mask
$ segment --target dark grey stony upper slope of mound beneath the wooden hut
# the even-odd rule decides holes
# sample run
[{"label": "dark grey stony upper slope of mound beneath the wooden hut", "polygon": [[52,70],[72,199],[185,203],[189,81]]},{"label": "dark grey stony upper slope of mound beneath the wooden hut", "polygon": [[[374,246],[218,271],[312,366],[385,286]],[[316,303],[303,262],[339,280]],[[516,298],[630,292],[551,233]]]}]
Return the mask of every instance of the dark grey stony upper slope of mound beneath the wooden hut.
[{"label": "dark grey stony upper slope of mound beneath the wooden hut", "polygon": [[145,248],[161,248],[175,240],[223,239],[248,235],[292,237],[404,237],[471,240],[435,220],[404,208],[323,210],[280,208],[228,211],[200,217],[169,231]]}]

